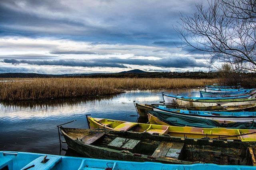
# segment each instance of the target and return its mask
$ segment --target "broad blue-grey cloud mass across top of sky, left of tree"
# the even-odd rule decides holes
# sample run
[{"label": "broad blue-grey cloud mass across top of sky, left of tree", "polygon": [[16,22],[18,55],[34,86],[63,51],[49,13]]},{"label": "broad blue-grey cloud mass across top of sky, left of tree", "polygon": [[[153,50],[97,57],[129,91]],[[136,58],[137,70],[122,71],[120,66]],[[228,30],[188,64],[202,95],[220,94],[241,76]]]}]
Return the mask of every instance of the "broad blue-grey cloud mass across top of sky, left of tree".
[{"label": "broad blue-grey cloud mass across top of sky, left of tree", "polygon": [[[0,34],[62,36],[72,40],[161,44],[178,40],[172,24],[202,0],[2,0]],[[204,3],[204,1],[203,1]],[[173,44],[170,44],[173,45]]]}]

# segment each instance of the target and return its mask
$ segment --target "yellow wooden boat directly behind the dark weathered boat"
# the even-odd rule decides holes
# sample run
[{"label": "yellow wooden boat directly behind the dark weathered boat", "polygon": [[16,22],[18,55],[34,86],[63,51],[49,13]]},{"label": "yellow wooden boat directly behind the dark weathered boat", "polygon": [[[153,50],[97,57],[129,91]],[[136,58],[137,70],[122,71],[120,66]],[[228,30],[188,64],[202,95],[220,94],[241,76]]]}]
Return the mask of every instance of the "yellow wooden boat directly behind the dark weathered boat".
[{"label": "yellow wooden boat directly behind the dark weathered boat", "polygon": [[90,128],[106,128],[117,131],[133,131],[139,133],[169,134],[170,136],[200,139],[204,137],[225,137],[230,140],[256,141],[256,130],[227,128],[195,128],[152,125],[88,117]]}]

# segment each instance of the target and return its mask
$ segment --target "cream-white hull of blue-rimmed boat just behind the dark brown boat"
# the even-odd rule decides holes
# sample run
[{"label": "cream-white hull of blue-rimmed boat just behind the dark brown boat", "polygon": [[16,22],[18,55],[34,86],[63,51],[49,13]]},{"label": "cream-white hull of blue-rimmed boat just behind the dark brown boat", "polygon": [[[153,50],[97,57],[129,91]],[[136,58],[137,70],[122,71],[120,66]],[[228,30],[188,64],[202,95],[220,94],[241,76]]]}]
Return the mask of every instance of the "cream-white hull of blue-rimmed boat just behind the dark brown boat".
[{"label": "cream-white hull of blue-rimmed boat just behind the dark brown boat", "polygon": [[[163,94],[163,97],[166,96]],[[239,105],[256,105],[256,99],[220,99],[220,100],[200,100],[200,99],[184,99],[176,97],[173,100],[171,97],[164,98],[165,103],[175,103],[182,106],[196,106],[196,107],[208,107],[208,106],[239,106]]]}]

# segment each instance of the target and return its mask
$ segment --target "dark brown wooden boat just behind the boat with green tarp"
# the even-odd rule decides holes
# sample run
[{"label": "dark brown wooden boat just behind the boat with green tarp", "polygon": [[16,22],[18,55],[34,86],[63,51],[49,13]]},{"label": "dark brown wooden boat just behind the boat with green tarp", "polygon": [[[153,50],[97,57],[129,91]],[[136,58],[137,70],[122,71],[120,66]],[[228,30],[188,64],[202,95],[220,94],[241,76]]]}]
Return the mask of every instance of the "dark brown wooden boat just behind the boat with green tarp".
[{"label": "dark brown wooden boat just behind the boat with green tarp", "polygon": [[256,111],[255,105],[238,105],[238,106],[208,106],[208,107],[194,107],[194,106],[178,106],[178,105],[160,105],[160,104],[138,104],[135,103],[138,114],[142,117],[147,116],[146,111],[153,111],[152,106],[165,106],[170,109],[183,109],[193,111]]}]

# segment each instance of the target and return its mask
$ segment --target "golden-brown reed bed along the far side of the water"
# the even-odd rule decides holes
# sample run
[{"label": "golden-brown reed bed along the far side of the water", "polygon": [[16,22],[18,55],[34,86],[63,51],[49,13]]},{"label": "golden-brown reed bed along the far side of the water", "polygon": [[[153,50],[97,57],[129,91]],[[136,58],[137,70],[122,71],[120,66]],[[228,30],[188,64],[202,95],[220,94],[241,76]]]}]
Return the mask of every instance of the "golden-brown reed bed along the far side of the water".
[{"label": "golden-brown reed bed along the far side of the water", "polygon": [[[31,81],[0,82],[0,100],[49,99],[110,95],[132,89],[176,89],[200,87],[215,79],[136,78],[34,78]],[[15,81],[19,80],[19,81]]]}]

